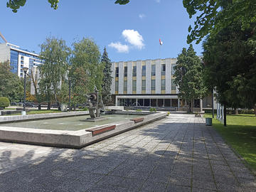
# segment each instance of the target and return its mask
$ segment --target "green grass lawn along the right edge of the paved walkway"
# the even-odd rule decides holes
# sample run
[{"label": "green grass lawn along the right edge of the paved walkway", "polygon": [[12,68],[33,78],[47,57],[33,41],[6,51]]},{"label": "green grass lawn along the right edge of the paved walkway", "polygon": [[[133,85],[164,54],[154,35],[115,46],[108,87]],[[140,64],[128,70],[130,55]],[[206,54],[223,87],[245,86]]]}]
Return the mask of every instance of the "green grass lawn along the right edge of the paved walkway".
[{"label": "green grass lawn along the right edge of the paved walkway", "polygon": [[[205,114],[212,117],[212,114]],[[216,117],[216,116],[215,116]],[[228,114],[227,127],[213,119],[213,127],[256,171],[256,117],[254,114]]]}]

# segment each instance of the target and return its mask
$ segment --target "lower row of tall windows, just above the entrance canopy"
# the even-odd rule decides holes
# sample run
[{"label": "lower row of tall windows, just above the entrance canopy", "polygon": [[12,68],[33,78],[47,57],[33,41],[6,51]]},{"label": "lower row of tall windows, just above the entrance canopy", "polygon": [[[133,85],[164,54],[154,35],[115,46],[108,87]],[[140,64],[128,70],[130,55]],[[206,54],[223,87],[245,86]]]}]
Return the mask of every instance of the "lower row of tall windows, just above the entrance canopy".
[{"label": "lower row of tall windows, just above the entrance canopy", "polygon": [[[115,81],[114,90],[119,91],[119,81]],[[151,90],[156,90],[156,80],[151,80]],[[161,80],[161,90],[166,90],[166,80]],[[174,79],[171,80],[171,90],[176,90]],[[132,91],[137,91],[137,80],[132,80]],[[146,80],[142,80],[142,91],[146,91]],[[127,80],[124,80],[124,92],[127,92]]]}]

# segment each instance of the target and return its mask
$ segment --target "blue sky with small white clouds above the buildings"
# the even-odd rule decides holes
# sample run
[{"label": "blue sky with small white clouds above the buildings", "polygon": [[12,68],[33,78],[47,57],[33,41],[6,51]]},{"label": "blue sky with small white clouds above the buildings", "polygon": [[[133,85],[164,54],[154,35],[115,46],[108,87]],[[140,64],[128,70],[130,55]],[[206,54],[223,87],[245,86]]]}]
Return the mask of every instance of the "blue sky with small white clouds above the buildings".
[{"label": "blue sky with small white clouds above the buildings", "polygon": [[[0,2],[0,32],[9,43],[40,53],[46,37],[63,38],[68,46],[92,38],[112,62],[176,58],[188,48],[188,26],[193,25],[181,0],[60,0],[58,9],[47,0],[27,0],[15,14]],[[163,42],[160,46],[159,38]],[[4,43],[0,39],[0,43]],[[201,55],[201,43],[193,48]]]}]

